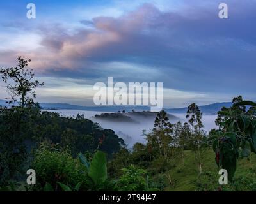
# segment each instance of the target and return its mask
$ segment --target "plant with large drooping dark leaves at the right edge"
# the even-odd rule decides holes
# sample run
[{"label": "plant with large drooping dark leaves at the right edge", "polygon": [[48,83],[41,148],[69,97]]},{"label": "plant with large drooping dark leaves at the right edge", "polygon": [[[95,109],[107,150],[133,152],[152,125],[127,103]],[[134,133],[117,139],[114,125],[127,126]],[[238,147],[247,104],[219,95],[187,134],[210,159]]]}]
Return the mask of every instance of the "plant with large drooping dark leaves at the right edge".
[{"label": "plant with large drooping dark leaves at the right edge", "polygon": [[238,157],[250,157],[256,152],[256,117],[246,111],[246,105],[255,105],[252,101],[243,101],[239,96],[233,99],[234,105],[222,108],[218,112],[216,124],[220,131],[212,132],[216,136],[212,147],[216,153],[216,163],[228,171],[228,180],[236,172]]}]

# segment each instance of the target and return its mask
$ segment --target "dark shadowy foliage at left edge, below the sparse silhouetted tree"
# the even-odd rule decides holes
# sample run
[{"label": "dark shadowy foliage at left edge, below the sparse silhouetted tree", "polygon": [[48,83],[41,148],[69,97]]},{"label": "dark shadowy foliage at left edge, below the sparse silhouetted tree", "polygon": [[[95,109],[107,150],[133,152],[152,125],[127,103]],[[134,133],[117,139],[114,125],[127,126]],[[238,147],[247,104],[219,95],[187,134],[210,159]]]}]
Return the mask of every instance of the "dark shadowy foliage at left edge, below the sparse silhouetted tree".
[{"label": "dark shadowy foliage at left edge, below the sparse silhouetted tree", "polygon": [[38,106],[0,108],[0,185],[18,172],[24,173],[33,134],[31,123],[38,112]]}]

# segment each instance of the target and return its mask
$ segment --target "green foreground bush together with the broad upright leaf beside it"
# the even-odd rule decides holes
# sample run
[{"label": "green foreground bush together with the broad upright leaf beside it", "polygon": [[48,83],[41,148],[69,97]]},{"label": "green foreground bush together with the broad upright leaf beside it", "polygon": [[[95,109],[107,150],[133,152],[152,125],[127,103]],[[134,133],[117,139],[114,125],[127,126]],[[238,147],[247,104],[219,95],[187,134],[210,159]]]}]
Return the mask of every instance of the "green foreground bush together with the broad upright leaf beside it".
[{"label": "green foreground bush together with the broad upright leaf beside it", "polygon": [[88,163],[83,154],[73,159],[70,152],[56,145],[41,145],[35,153],[33,168],[38,190],[90,191],[111,187],[107,182],[106,154],[100,151],[95,152],[92,162]]}]

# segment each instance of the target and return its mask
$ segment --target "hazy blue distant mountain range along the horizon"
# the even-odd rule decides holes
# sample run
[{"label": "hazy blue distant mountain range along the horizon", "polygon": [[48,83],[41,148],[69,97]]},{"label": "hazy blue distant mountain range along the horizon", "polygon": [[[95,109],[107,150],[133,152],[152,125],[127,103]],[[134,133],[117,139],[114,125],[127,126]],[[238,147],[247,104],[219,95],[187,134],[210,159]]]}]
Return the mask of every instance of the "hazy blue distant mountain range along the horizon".
[{"label": "hazy blue distant mountain range along the horizon", "polygon": [[[8,106],[4,100],[0,99],[1,106]],[[43,109],[73,109],[73,110],[90,110],[90,111],[99,111],[99,112],[118,112],[125,110],[125,112],[136,112],[149,111],[150,107],[148,106],[79,106],[71,105],[68,103],[40,103],[40,106]],[[231,102],[222,102],[222,103],[212,103],[209,105],[199,106],[200,110],[205,114],[216,114],[221,108],[232,106]],[[166,112],[170,113],[186,113],[187,108],[164,108]]]}]

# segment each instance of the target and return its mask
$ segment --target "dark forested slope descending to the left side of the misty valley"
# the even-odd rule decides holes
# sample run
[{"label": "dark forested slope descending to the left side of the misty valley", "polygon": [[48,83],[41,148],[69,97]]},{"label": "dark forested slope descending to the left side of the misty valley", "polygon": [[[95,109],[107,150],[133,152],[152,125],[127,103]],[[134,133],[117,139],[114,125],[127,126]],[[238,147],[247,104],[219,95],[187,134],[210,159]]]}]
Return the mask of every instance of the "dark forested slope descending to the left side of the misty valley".
[{"label": "dark forested slope descending to the left side of the misty valley", "polygon": [[[102,129],[80,115],[74,119],[60,117],[57,113],[42,112],[33,126],[36,127],[35,138],[37,140],[48,138],[52,143],[60,143],[63,148],[68,146],[74,157],[79,152],[94,152],[97,148],[108,153],[110,157],[124,145],[124,140],[119,138],[114,131]],[[105,138],[99,147],[103,135]]]}]

